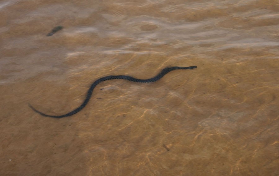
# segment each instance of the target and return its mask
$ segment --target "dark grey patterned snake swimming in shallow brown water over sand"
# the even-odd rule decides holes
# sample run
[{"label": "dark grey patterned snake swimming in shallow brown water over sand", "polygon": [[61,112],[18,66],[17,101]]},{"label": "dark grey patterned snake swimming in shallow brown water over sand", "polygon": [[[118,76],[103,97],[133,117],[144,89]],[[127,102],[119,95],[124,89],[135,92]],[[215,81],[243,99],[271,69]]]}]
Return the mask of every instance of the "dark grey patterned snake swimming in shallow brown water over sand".
[{"label": "dark grey patterned snake swimming in shallow brown water over sand", "polygon": [[52,118],[62,118],[62,117],[68,117],[68,116],[72,116],[74,114],[77,114],[79,111],[81,111],[89,102],[91,96],[92,96],[92,92],[94,90],[94,88],[101,82],[103,81],[107,81],[110,79],[125,79],[128,81],[132,81],[132,82],[138,82],[138,83],[151,83],[151,82],[155,82],[158,81],[159,79],[161,79],[164,75],[166,75],[167,73],[169,73],[170,71],[173,70],[178,70],[178,69],[182,69],[182,70],[186,70],[186,69],[194,69],[197,68],[197,66],[190,66],[190,67],[166,67],[164,68],[158,75],[154,76],[153,78],[150,79],[137,79],[134,78],[132,76],[127,76],[127,75],[109,75],[109,76],[104,76],[102,78],[97,79],[95,82],[93,82],[90,86],[90,88],[87,91],[86,94],[86,98],[84,99],[83,103],[77,107],[76,109],[72,110],[71,112],[67,113],[67,114],[63,114],[63,115],[48,115],[45,113],[42,113],[41,111],[35,109],[32,105],[28,104],[29,107],[31,109],[33,109],[33,111],[35,111],[38,114],[41,114],[42,116],[45,117],[52,117]]}]

